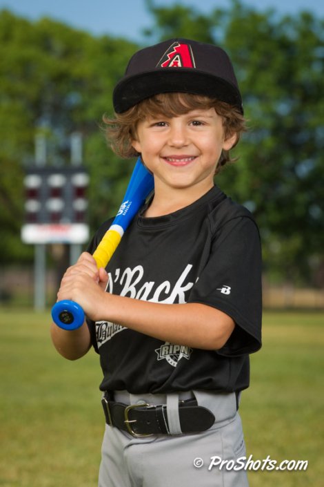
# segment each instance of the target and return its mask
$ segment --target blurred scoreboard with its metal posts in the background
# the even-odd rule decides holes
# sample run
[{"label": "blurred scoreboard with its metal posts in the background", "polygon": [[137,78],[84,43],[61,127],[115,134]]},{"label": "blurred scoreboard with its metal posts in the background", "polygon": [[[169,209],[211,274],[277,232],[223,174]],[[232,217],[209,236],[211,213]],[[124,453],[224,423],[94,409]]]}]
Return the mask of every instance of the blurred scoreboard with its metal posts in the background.
[{"label": "blurred scoreboard with its metal posts in the background", "polygon": [[65,166],[46,164],[45,139],[38,136],[35,163],[26,169],[25,222],[21,239],[34,245],[34,307],[45,308],[45,252],[48,244],[70,246],[70,263],[89,240],[86,193],[89,175],[82,164],[81,135],[71,136],[71,160]]}]

